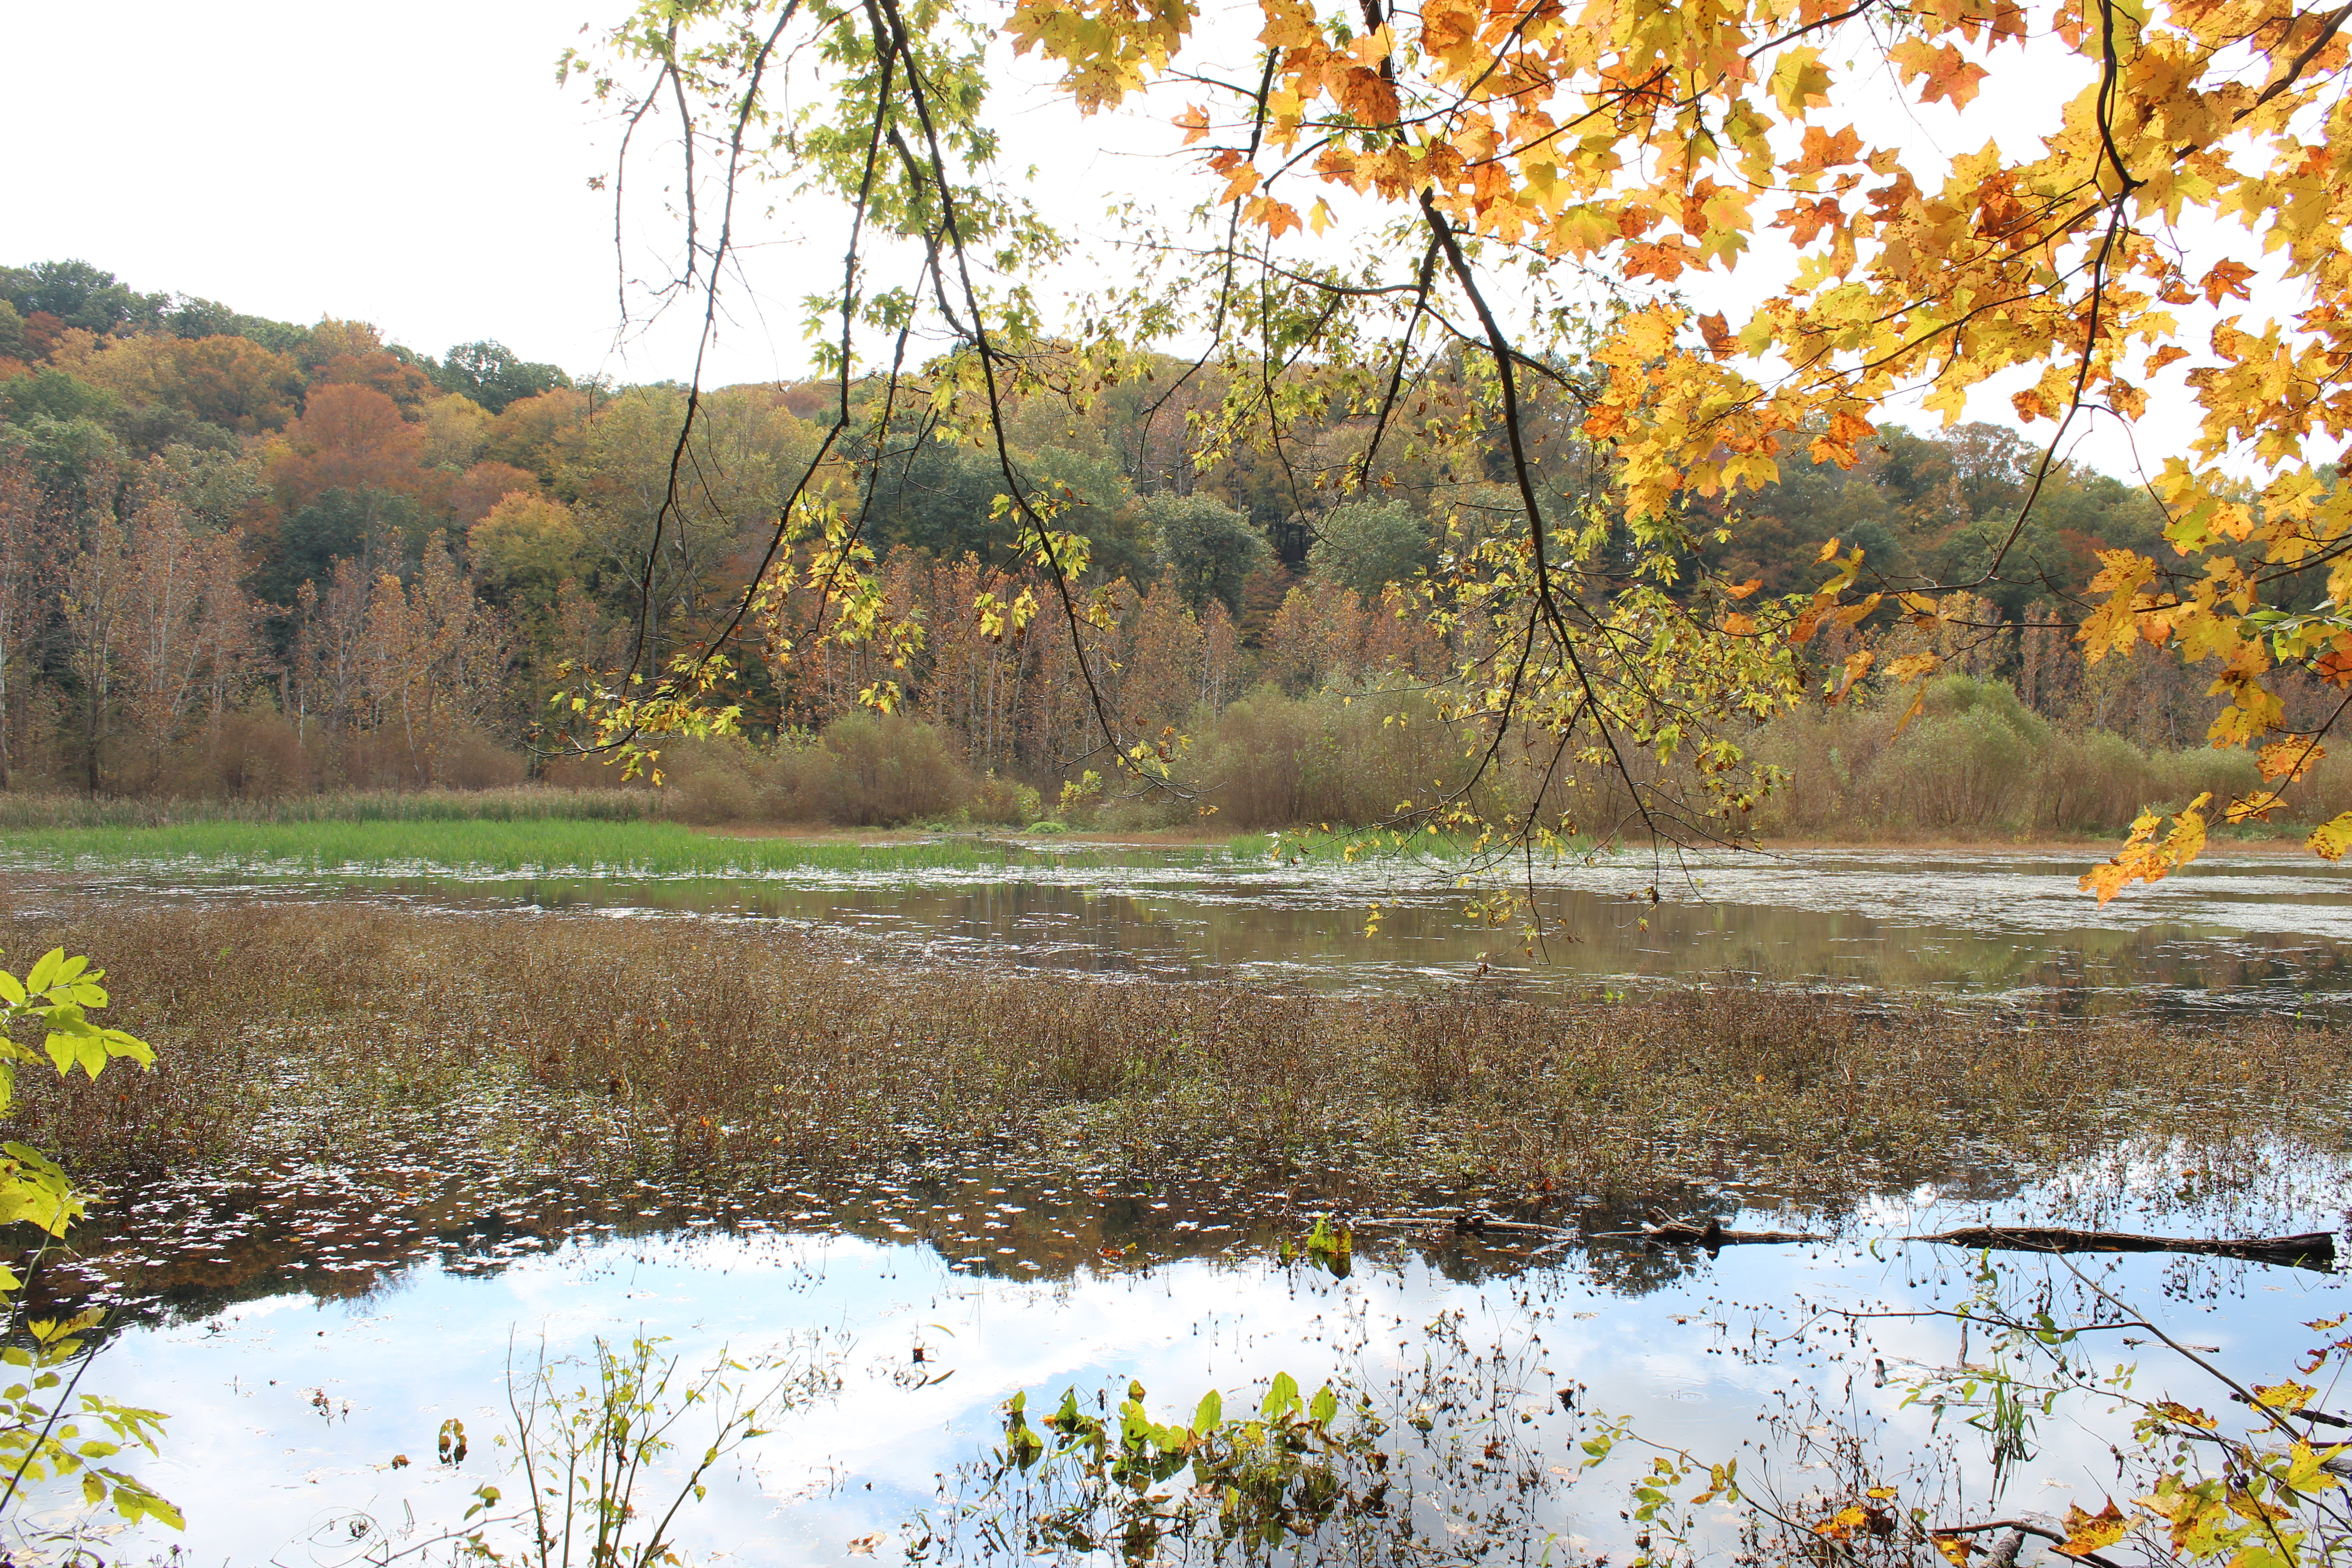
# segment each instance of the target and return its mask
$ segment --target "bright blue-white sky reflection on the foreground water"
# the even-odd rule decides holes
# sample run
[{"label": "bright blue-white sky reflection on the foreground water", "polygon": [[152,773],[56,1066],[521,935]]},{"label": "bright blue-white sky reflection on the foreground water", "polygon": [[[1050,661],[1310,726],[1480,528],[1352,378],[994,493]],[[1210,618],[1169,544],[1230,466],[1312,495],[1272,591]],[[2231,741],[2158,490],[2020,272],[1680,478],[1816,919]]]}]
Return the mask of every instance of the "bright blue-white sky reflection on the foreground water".
[{"label": "bright blue-white sky reflection on the foreground water", "polygon": [[[1002,1215],[993,1234],[1023,1237],[1000,1244],[1014,1258],[1028,1239],[1065,1255],[1122,1232],[1112,1215],[1101,1232],[1070,1234],[1054,1222],[1068,1211],[1035,1213],[1014,1197],[1025,1194],[974,1187],[962,1211]],[[400,1291],[353,1300],[249,1298],[127,1333],[99,1366],[108,1389],[174,1413],[167,1460],[148,1469],[188,1505],[198,1559],[301,1561],[310,1547],[289,1544],[329,1540],[346,1556],[313,1561],[348,1561],[355,1516],[454,1519],[494,1474],[489,1443],[468,1467],[395,1469],[393,1455],[428,1455],[445,1418],[499,1432],[517,1345],[524,1356],[541,1342],[567,1354],[595,1333],[640,1328],[689,1356],[811,1338],[842,1356],[840,1399],[781,1422],[694,1509],[689,1547],[727,1561],[833,1563],[851,1542],[875,1552],[877,1537],[894,1561],[915,1535],[908,1521],[936,1528],[971,1500],[971,1467],[1014,1392],[1051,1401],[1075,1387],[1117,1401],[1138,1380],[1181,1415],[1209,1387],[1254,1401],[1277,1371],[1371,1401],[1439,1537],[1505,1519],[1515,1544],[1557,1537],[1555,1559],[1583,1559],[1625,1552],[1632,1530],[1618,1516],[1625,1476],[1581,1472],[1576,1443],[1595,1410],[1632,1418],[1670,1448],[1740,1458],[1748,1472],[1788,1458],[1776,1434],[1830,1418],[1884,1422],[1879,1441],[1893,1448],[1926,1443],[1924,1415],[1903,1410],[1900,1389],[1882,1380],[1886,1366],[1950,1359],[1950,1324],[1856,1324],[1837,1309],[1898,1314],[1964,1298],[1971,1260],[1889,1241],[1950,1208],[1940,1197],[1891,1199],[1823,1246],[1712,1260],[1632,1248],[1512,1272],[1449,1267],[1451,1244],[1406,1237],[1362,1244],[1345,1279],[1216,1237],[1183,1258],[1096,1258],[1047,1279],[1042,1267],[974,1267],[957,1255],[962,1239],[609,1234],[489,1272],[416,1267]],[[2333,1281],[2253,1265],[2122,1258],[2103,1260],[2098,1276],[2136,1298],[2171,1295],[2173,1328],[2216,1345],[2220,1366],[2246,1378],[2277,1375],[2279,1347],[2300,1347],[2296,1324],[2336,1309]],[[2063,1486],[2096,1493],[2112,1474],[2107,1436],[2044,1434],[2016,1507],[2058,1507]],[[1724,1521],[1703,1526],[1729,1533]]]}]

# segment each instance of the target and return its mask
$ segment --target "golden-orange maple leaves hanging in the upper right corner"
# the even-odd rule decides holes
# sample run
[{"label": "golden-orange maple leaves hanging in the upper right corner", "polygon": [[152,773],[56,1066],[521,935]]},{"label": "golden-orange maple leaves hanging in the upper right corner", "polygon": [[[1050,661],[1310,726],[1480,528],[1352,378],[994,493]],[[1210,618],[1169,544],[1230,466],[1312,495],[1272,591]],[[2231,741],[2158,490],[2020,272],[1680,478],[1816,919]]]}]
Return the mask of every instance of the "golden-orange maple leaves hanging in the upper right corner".
[{"label": "golden-orange maple leaves hanging in the upper right corner", "polygon": [[[1263,89],[1244,82],[1223,118],[1195,106],[1183,125],[1228,200],[1251,195],[1240,221],[1268,240],[1279,190],[1319,183],[1416,219],[1449,261],[1456,237],[1479,237],[1531,270],[1675,282],[1750,266],[1759,228],[1799,247],[1748,322],[1663,301],[1623,313],[1592,348],[1604,383],[1583,435],[1609,449],[1630,517],[1769,482],[1788,435],[1816,461],[1851,463],[1898,388],[1924,388],[1957,421],[1969,388],[2023,371],[2013,407],[2056,425],[2053,454],[2091,411],[2131,423],[2150,397],[2190,400],[2201,430],[2154,491],[2171,548],[2201,559],[2107,550],[2084,656],[2145,642],[2213,663],[2216,745],[2263,745],[2284,726],[2281,665],[2352,661],[2352,498],[2319,470],[2352,428],[2343,9],[1945,0],[1900,12],[1893,42],[1879,42],[1879,7],[1825,0],[1258,9]],[[1152,80],[1105,73],[1105,59],[1155,61],[1190,28],[1190,12],[1073,0],[1016,0],[1014,14],[1018,47],[1061,61],[1082,108]],[[1889,66],[1917,103],[1971,125],[1980,89],[2027,68],[2030,38],[2056,38],[2077,63],[2030,150],[1987,136],[1931,179],[1853,129]],[[2234,254],[2185,270],[2183,228]],[[1456,273],[1475,296],[1477,277]],[[2197,303],[2246,310],[2206,343],[2180,341]],[[2258,505],[2225,463],[2249,456]],[[2328,597],[2265,625],[2286,574],[2317,567]],[[1853,611],[1858,576],[1842,564],[1790,639]],[[1748,635],[1750,621],[1722,630]],[[1858,675],[1849,665],[1844,682]],[[2291,783],[2317,750],[2291,762],[2279,745],[2293,743],[2265,748],[2263,766]],[[2314,849],[2343,853],[2340,839]],[[2164,844],[2136,844],[2086,884],[2112,898],[2199,842],[2201,818],[2185,813]]]}]

